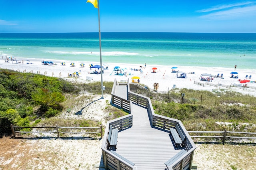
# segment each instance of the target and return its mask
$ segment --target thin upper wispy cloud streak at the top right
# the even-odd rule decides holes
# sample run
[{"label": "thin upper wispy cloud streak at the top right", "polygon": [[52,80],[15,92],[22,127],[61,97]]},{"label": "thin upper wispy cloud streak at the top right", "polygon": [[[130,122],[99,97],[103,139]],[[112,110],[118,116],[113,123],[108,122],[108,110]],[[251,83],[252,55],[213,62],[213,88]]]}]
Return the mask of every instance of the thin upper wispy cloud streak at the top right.
[{"label": "thin upper wispy cloud streak at the top right", "polygon": [[242,2],[242,3],[235,3],[235,4],[225,4],[225,5],[217,5],[217,6],[213,6],[211,8],[208,9],[203,9],[203,10],[198,10],[196,12],[212,12],[212,11],[216,11],[216,10],[224,10],[224,9],[228,9],[228,8],[234,8],[234,7],[239,7],[239,6],[247,6],[250,4],[254,4],[256,2]]}]

